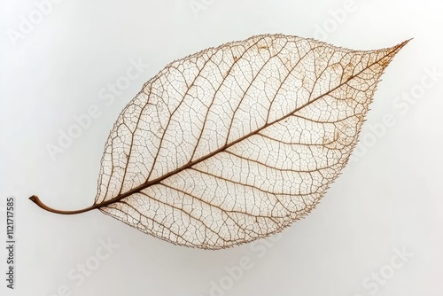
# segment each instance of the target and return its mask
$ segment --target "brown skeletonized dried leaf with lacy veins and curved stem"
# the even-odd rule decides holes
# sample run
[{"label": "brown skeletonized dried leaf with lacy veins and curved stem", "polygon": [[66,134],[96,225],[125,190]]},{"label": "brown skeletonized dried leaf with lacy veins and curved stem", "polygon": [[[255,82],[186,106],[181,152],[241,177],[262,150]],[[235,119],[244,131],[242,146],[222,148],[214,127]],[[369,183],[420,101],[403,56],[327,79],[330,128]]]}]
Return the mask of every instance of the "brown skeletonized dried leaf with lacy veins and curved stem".
[{"label": "brown skeletonized dried leaf with lacy veins and curved stem", "polygon": [[377,82],[407,42],[352,51],[258,35],[167,65],[105,144],[93,206],[177,245],[220,249],[307,215],[357,143]]}]

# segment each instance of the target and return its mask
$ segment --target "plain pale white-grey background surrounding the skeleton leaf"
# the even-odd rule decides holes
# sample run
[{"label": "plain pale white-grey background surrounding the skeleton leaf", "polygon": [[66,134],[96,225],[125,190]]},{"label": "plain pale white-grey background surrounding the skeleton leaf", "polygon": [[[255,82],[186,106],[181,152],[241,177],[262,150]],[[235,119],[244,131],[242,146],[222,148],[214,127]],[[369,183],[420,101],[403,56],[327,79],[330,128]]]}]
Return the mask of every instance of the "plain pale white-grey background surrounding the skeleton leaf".
[{"label": "plain pale white-grey background surrounding the skeleton leaf", "polygon": [[[195,12],[193,3],[205,9]],[[2,295],[443,294],[441,1],[354,0],[340,14],[346,1],[64,0],[15,42],[8,32],[19,32],[20,16],[29,19],[35,2],[0,5],[2,238],[6,197],[14,196],[17,208],[16,289],[5,288],[2,246]],[[263,33],[361,50],[414,38],[378,85],[359,157],[315,211],[276,242],[190,249],[98,211],[51,214],[27,199],[37,194],[60,209],[90,206],[108,132],[144,82],[176,58]],[[138,58],[149,67],[105,105],[99,91]],[[424,88],[420,82],[432,82],[426,72],[432,69],[439,76]],[[404,97],[411,93],[416,99],[408,102]],[[58,144],[59,129],[72,127],[73,116],[90,105],[99,106],[100,116],[52,160],[47,144]],[[386,114],[395,123],[380,128]],[[97,263],[100,239],[119,247],[82,284],[68,277],[78,264]],[[401,261],[395,250],[409,255]],[[242,257],[250,269],[239,272],[232,267]],[[392,260],[402,267],[392,268]],[[237,275],[229,276],[227,268]],[[377,283],[373,277],[380,272]]]}]

